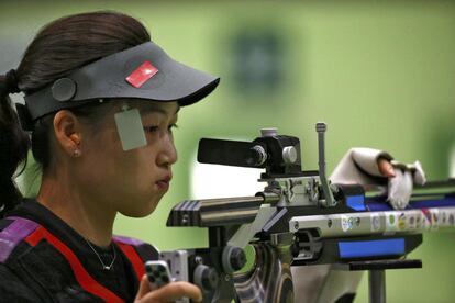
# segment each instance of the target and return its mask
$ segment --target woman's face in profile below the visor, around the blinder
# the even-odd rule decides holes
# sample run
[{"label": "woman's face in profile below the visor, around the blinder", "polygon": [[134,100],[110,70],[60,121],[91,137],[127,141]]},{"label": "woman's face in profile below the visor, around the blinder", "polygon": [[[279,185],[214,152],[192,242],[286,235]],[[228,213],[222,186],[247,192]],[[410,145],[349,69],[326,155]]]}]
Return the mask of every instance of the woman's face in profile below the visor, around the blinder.
[{"label": "woman's face in profile below the visor, around the blinder", "polygon": [[87,144],[78,175],[90,201],[127,216],[145,216],[169,189],[171,165],[177,161],[173,127],[179,106],[177,102],[127,102],[140,110],[147,145],[124,152],[114,122],[119,103],[100,130],[88,130],[86,141],[82,138]]}]

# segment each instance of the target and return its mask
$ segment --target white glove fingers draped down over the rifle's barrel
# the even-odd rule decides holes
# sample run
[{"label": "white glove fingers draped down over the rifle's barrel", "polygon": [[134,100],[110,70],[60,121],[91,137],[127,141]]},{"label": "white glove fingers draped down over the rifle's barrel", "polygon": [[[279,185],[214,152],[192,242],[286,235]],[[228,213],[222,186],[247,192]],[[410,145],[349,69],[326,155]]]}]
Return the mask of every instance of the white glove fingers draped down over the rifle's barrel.
[{"label": "white glove fingers draped down over the rifle's barrel", "polygon": [[403,165],[391,161],[396,176],[388,180],[387,201],[396,210],[404,210],[409,204],[413,184],[423,186],[426,181],[425,172],[419,161]]}]

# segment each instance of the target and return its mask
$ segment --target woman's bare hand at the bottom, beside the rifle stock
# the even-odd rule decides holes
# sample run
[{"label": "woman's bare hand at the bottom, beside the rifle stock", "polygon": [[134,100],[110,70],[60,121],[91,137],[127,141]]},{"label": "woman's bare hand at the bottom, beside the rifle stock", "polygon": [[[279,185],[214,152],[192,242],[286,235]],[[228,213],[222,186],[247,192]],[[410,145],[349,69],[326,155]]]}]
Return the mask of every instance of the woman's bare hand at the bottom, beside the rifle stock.
[{"label": "woman's bare hand at the bottom, beside the rifle stock", "polygon": [[164,303],[164,302],[174,302],[181,298],[189,298],[193,302],[202,301],[201,290],[191,283],[188,282],[170,282],[169,284],[153,290],[149,287],[147,277],[144,274],[141,280],[140,289],[136,294],[135,303]]}]

